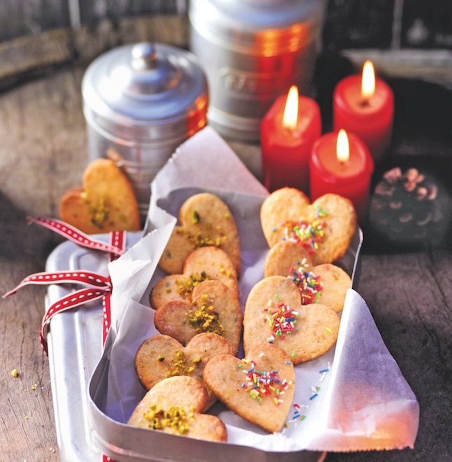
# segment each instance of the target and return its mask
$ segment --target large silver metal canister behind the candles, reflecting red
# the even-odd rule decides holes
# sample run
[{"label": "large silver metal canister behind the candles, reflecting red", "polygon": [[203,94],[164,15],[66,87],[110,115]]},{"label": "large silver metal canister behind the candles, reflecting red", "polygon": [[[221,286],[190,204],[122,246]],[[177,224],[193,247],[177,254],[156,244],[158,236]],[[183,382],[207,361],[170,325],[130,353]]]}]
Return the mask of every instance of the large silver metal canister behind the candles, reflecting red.
[{"label": "large silver metal canister behind the candles, reflecting red", "polygon": [[324,0],[191,0],[191,51],[221,134],[257,140],[261,118],[293,84],[309,93]]}]

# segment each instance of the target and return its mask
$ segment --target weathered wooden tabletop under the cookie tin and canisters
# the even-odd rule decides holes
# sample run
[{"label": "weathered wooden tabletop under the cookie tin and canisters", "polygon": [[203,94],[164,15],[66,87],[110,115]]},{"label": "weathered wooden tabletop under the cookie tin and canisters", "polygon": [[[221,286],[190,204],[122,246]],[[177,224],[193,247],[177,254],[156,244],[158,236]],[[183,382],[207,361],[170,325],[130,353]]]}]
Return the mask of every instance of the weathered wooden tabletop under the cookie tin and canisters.
[{"label": "weathered wooden tabletop under the cookie tin and canisters", "polygon": [[[82,72],[70,66],[0,94],[1,293],[42,271],[61,241],[27,226],[25,217],[57,216],[61,194],[80,183],[87,163]],[[398,146],[407,148],[406,139]],[[258,169],[256,146],[233,147]],[[331,454],[328,461],[451,460],[451,256],[447,249],[395,254],[367,248],[363,253],[360,293],[416,393],[420,428],[414,451]],[[58,460],[48,358],[38,339],[44,294],[45,288],[25,288],[1,302],[2,461]],[[10,373],[14,368],[16,379]]]}]

